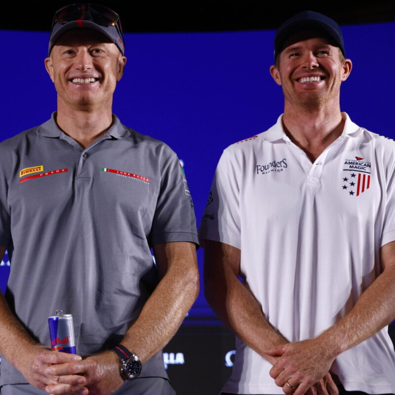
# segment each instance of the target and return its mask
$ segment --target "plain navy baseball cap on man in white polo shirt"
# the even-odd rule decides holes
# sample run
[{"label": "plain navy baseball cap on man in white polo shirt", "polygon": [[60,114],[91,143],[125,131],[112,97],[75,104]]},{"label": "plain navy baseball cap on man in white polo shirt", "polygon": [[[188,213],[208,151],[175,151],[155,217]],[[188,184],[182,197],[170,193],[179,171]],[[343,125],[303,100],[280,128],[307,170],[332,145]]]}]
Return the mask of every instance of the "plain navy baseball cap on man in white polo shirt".
[{"label": "plain navy baseball cap on man in white polo shirt", "polygon": [[343,55],[344,42],[340,26],[333,19],[314,11],[303,11],[286,20],[276,31],[275,37],[275,61],[277,55],[284,49],[285,41],[292,35],[306,30],[322,32],[336,46],[340,48]]}]

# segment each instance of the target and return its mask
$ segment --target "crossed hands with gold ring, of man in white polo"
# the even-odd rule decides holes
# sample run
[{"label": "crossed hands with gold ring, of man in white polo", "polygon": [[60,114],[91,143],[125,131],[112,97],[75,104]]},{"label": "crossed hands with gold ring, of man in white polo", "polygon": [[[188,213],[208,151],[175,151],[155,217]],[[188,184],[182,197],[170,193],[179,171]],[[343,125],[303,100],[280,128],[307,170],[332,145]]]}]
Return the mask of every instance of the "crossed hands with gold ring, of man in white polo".
[{"label": "crossed hands with gold ring, of man in white polo", "polygon": [[[328,372],[336,355],[319,340],[288,343],[265,350],[265,353],[281,356],[270,370],[270,375],[285,394],[303,395],[325,377],[326,381],[323,380],[319,387],[323,389],[329,384],[331,391],[334,390],[331,378],[328,383]],[[286,383],[295,388],[290,388]]]}]

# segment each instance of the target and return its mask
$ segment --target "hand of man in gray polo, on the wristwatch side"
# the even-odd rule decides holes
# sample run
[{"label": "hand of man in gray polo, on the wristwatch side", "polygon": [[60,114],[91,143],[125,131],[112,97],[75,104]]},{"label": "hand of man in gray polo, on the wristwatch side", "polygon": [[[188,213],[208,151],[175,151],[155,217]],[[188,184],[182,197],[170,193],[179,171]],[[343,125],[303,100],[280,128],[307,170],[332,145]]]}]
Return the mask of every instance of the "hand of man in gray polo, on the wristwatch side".
[{"label": "hand of man in gray polo, on the wristwatch side", "polygon": [[84,357],[81,361],[53,365],[46,369],[49,375],[59,376],[57,384],[50,384],[45,391],[54,395],[70,392],[63,384],[63,377],[80,375],[85,379],[84,392],[81,395],[108,395],[118,390],[123,384],[120,377],[120,359],[113,351],[104,351]]}]

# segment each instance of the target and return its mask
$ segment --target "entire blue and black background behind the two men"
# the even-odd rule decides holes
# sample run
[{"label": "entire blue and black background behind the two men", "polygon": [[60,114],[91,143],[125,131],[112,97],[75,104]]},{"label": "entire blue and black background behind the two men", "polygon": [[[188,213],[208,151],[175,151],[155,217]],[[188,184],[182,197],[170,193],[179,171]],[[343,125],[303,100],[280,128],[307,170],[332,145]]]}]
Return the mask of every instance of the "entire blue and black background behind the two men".
[{"label": "entire blue and black background behind the two men", "polygon": [[[281,90],[268,72],[274,29],[307,6],[266,1],[98,2],[119,13],[126,32],[128,62],[114,112],[127,126],[165,141],[178,153],[199,222],[222,150],[266,130],[281,113]],[[68,3],[2,6],[0,141],[42,123],[56,110],[43,58],[53,12]],[[311,9],[344,25],[346,56],[354,69],[342,86],[342,110],[359,125],[394,138],[395,1],[359,1],[357,8],[331,1]],[[198,259],[201,270],[201,250]],[[1,289],[7,264],[5,257]],[[390,331],[395,331],[394,325]],[[233,336],[200,292],[164,350],[178,394],[218,393],[230,374],[226,356],[233,348]]]}]

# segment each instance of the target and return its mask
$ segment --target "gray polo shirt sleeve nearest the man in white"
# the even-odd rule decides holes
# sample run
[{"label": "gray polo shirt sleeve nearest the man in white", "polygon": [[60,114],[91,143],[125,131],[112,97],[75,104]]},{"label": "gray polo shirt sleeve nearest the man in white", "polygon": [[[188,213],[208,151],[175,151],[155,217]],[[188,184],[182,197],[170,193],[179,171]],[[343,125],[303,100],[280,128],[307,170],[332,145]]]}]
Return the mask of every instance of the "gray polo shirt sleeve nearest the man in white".
[{"label": "gray polo shirt sleeve nearest the man in white", "polygon": [[152,223],[151,245],[191,241],[198,245],[195,211],[184,169],[176,155],[166,163]]}]

